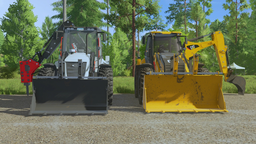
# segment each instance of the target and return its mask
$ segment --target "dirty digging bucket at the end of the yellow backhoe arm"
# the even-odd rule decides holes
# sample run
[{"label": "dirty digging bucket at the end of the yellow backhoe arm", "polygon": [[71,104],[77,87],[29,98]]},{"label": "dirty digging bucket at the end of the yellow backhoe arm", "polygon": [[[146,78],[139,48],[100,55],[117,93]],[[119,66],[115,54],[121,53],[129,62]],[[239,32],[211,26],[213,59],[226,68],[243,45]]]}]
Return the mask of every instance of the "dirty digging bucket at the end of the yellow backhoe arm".
[{"label": "dirty digging bucket at the end of the yellow backhoe arm", "polygon": [[242,76],[230,75],[227,82],[234,84],[238,88],[239,95],[244,95],[246,81]]}]

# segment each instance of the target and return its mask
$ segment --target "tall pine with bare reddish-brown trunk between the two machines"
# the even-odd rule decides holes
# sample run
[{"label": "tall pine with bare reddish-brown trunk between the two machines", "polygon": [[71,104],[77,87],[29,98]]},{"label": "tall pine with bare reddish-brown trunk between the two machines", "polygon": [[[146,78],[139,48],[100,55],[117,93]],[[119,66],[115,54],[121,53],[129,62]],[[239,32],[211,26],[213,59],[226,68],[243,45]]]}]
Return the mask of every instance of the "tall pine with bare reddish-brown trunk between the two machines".
[{"label": "tall pine with bare reddish-brown trunk between the two machines", "polygon": [[[111,5],[117,6],[117,13],[111,12],[110,15],[106,15],[105,20],[108,20],[112,25],[116,25],[123,32],[130,33],[132,31],[132,66],[133,76],[135,72],[135,54],[136,54],[136,29],[141,31],[145,25],[148,24],[148,20],[141,16],[157,15],[159,13],[159,5],[157,0],[111,0]],[[136,18],[136,16],[140,15]]]}]

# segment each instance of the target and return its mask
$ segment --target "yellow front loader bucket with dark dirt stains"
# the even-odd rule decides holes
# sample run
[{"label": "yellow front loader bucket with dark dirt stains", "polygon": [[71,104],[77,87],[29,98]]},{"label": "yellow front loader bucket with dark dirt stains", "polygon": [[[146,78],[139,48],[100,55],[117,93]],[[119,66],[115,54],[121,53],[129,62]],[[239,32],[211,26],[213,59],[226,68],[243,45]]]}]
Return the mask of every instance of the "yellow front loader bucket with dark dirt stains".
[{"label": "yellow front loader bucket with dark dirt stains", "polygon": [[146,112],[228,112],[222,75],[145,75]]}]

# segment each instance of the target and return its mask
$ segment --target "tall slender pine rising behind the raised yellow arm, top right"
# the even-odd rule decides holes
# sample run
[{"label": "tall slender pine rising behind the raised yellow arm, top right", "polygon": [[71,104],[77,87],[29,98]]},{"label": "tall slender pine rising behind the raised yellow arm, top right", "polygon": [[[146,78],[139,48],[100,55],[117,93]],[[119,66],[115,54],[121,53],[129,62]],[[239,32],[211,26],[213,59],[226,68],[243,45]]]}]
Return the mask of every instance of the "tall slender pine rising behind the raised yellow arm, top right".
[{"label": "tall slender pine rising behind the raised yellow arm, top right", "polygon": [[[236,45],[238,42],[238,37],[240,37],[241,40],[246,38],[245,35],[240,32],[240,30],[241,28],[247,27],[246,18],[248,17],[249,13],[242,11],[248,9],[250,6],[247,4],[246,0],[240,0],[240,2],[237,0],[226,0],[226,4],[223,4],[222,6],[225,10],[229,10],[230,16],[225,15],[223,18],[227,23],[229,37]],[[233,40],[234,37],[235,39]]]}]

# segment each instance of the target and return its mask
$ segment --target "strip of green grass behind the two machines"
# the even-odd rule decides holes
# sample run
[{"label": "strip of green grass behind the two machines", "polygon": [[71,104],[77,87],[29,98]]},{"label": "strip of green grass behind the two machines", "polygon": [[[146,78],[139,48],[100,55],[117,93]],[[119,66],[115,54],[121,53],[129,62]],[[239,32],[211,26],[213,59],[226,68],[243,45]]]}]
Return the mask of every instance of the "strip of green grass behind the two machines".
[{"label": "strip of green grass behind the two machines", "polygon": [[[246,94],[256,94],[256,76],[255,75],[245,75],[242,76],[246,80]],[[113,92],[117,93],[129,93],[134,94],[134,78],[129,76],[117,76],[113,78],[114,86]],[[32,94],[32,86],[29,86],[30,94]],[[235,85],[229,82],[224,82],[222,85],[222,90],[225,93],[238,93]],[[14,79],[0,79],[0,94],[1,95],[25,95],[26,86],[20,81],[18,76]]]}]

